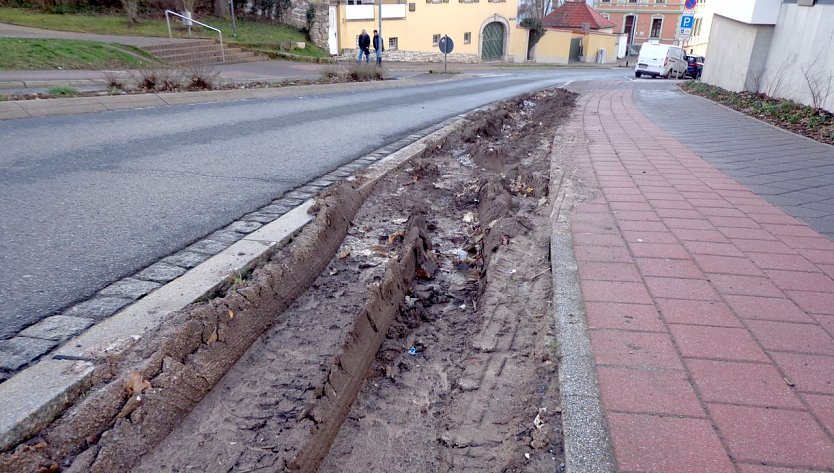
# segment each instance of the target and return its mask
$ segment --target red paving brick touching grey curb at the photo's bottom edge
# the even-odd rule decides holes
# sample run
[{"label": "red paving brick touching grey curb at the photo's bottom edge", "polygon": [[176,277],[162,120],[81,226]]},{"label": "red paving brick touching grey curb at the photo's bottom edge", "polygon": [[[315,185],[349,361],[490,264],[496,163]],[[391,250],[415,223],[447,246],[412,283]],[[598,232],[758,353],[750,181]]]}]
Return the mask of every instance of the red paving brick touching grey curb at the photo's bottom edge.
[{"label": "red paving brick touching grey curb at the photo's bottom edge", "polygon": [[610,413],[608,424],[620,471],[734,471],[708,420]]}]

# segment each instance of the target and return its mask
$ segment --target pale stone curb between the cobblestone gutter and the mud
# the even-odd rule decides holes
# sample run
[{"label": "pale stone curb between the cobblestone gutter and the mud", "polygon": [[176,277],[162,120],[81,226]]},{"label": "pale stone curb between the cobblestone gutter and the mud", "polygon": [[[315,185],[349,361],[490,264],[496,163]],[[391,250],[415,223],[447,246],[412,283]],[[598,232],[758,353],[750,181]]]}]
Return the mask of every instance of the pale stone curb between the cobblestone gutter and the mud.
[{"label": "pale stone curb between the cobblestone gutter and the mud", "polygon": [[[421,137],[410,135],[405,140],[418,139],[401,149],[390,149],[397,145],[394,143],[378,150],[379,156],[357,160],[360,166],[368,165],[362,171],[367,180],[365,186],[373,185],[423,152],[427,143],[448,135],[461,121],[461,116],[454,117],[424,130]],[[383,157],[381,152],[385,150],[390,154]],[[303,195],[300,190],[295,193]],[[305,200],[277,220],[153,290],[0,384],[0,404],[3,406],[0,410],[0,451],[36,434],[72,405],[92,384],[96,363],[124,356],[137,340],[164,323],[171,313],[211,294],[289,242],[313,220],[314,217],[307,214],[312,204],[312,199]]]}]

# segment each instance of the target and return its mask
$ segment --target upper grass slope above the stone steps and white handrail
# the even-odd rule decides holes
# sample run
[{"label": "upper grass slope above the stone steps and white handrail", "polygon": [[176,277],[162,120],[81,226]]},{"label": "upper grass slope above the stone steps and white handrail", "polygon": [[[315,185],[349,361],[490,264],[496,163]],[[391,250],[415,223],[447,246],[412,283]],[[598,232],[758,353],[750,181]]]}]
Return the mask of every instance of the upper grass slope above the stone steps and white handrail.
[{"label": "upper grass slope above the stone steps and white handrail", "polygon": [[[234,37],[232,36],[231,19],[214,17],[195,17],[195,19],[201,23],[220,29],[223,32],[223,41],[229,43],[277,48],[280,43],[286,41],[306,41],[304,33],[295,28],[283,25],[238,19],[237,37]],[[127,18],[121,15],[56,15],[24,8],[0,8],[0,23],[80,33],[168,36],[168,26],[164,18],[144,18],[140,20],[139,24],[131,25],[127,21]],[[188,31],[182,26],[181,21],[174,22],[174,18],[172,18],[171,26],[175,37],[188,37]],[[197,38],[217,37],[216,32],[196,25],[192,28],[192,35]],[[309,41],[307,43],[307,48],[304,50],[296,50],[294,53],[314,57],[327,56],[320,48],[317,48]]]}]

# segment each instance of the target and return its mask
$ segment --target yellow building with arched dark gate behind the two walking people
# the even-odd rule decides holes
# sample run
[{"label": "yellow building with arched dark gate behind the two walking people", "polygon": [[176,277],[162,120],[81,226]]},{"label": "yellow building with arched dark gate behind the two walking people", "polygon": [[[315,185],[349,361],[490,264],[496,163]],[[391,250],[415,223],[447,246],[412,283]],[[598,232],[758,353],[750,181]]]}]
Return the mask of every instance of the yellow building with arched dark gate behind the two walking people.
[{"label": "yellow building with arched dark gate behind the two walking people", "polygon": [[[454,41],[449,61],[514,61],[516,58],[510,54],[509,48],[511,36],[520,34],[526,38],[527,35],[527,30],[517,28],[517,10],[515,0],[383,3],[385,58],[396,61],[442,60],[438,42],[448,35]],[[378,5],[363,3],[363,0],[341,0],[338,4],[331,4],[330,25],[331,28],[336,26],[339,53],[356,53],[362,30],[372,35],[372,31],[378,29],[378,13]],[[331,30],[331,42],[333,36]]]}]

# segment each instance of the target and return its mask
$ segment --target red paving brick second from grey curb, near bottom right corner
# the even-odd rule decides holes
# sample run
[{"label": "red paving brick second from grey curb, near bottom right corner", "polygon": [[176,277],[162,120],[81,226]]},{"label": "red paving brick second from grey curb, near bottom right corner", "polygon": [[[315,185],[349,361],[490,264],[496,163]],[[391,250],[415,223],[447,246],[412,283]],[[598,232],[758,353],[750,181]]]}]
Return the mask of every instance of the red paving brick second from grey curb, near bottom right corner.
[{"label": "red paving brick second from grey curb, near bottom right corner", "polygon": [[797,467],[834,465],[834,443],[807,412],[710,404],[737,460]]}]

